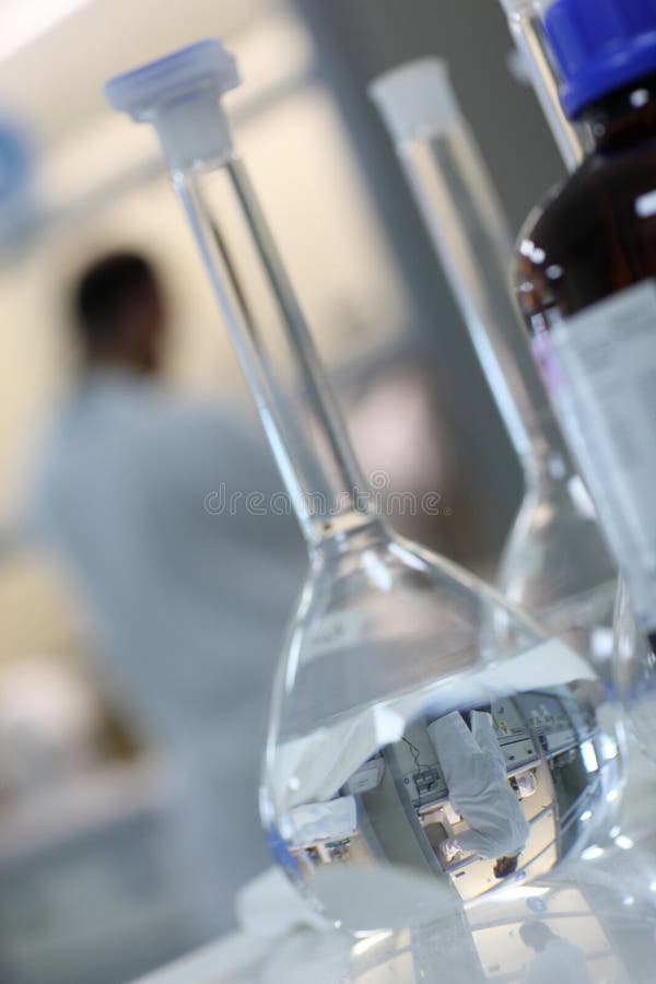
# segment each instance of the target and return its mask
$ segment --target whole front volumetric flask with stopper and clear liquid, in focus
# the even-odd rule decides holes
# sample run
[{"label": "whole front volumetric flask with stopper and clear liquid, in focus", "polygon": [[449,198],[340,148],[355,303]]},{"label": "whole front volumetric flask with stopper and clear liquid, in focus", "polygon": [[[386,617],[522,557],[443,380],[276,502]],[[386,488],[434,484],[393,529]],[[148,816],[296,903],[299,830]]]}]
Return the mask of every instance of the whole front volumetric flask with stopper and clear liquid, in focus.
[{"label": "whole front volumetric flask with stopper and clear liquid, in focus", "polygon": [[307,540],[262,821],[336,923],[425,923],[604,836],[618,740],[586,659],[377,515],[219,103],[236,84],[209,40],[107,96],[157,131]]}]

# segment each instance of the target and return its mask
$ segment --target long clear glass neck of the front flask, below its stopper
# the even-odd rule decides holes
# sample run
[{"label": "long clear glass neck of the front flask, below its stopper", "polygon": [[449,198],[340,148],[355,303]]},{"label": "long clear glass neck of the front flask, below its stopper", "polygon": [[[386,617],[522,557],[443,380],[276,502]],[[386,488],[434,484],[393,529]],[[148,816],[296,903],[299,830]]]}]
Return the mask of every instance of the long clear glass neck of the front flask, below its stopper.
[{"label": "long clear glass neck of the front flask, below its stopper", "polygon": [[311,552],[380,524],[243,163],[172,174]]}]

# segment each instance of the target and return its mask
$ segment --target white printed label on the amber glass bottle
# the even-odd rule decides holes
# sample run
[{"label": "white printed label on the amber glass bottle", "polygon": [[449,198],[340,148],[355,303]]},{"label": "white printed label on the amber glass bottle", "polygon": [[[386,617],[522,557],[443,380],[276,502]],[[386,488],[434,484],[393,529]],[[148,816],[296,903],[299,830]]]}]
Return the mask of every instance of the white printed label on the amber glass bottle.
[{"label": "white printed label on the amber glass bottle", "polygon": [[656,628],[656,284],[645,281],[557,324],[552,393],[629,583]]}]

